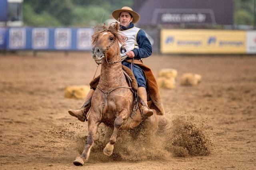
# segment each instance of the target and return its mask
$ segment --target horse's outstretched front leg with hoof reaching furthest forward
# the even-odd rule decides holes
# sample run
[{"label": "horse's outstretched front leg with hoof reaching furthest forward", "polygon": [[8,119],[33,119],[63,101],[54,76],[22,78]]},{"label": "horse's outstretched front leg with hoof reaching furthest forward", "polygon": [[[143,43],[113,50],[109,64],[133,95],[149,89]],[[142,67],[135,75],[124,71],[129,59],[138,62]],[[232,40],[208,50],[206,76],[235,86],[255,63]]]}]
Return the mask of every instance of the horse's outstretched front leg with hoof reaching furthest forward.
[{"label": "horse's outstretched front leg with hoof reaching furthest forward", "polygon": [[[99,116],[98,116],[99,117]],[[88,120],[88,136],[85,142],[84,150],[81,154],[81,156],[76,157],[76,160],[74,160],[74,165],[76,166],[83,166],[84,163],[88,161],[88,158],[90,156],[90,150],[92,147],[92,144],[94,142],[98,126],[100,125],[100,118],[96,116],[96,112],[91,112],[89,120]]]}]

